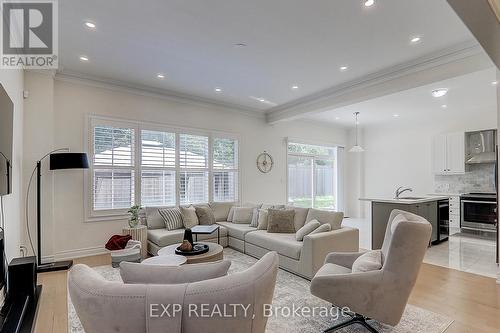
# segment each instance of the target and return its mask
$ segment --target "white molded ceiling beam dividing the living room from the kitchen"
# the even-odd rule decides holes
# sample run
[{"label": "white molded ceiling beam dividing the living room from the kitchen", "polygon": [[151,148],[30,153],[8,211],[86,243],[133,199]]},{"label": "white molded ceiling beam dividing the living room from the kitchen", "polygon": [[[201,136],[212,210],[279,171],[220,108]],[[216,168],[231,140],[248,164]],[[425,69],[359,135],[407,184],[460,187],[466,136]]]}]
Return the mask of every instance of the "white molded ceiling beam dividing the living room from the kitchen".
[{"label": "white molded ceiling beam dividing the living room from the kitchen", "polygon": [[[449,72],[453,76],[466,74],[459,73],[460,70],[452,66],[460,61],[468,61],[463,64],[461,70],[469,73],[492,66],[481,46],[476,41],[469,41],[271,108],[266,111],[266,121],[274,123],[295,119],[304,114],[319,113],[415,88],[431,83],[424,82],[426,76],[436,81],[437,72],[423,74],[429,71],[432,73],[439,67],[443,67],[444,70],[449,66]],[[443,73],[439,75],[445,76]],[[446,77],[439,79],[443,80]]]}]

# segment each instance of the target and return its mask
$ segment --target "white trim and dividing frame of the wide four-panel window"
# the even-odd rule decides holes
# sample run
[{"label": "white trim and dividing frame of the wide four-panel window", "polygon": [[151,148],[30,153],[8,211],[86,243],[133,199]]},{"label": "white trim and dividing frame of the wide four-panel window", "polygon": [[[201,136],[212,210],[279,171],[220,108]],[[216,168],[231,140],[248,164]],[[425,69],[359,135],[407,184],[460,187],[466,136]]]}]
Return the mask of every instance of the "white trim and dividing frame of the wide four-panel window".
[{"label": "white trim and dividing frame of the wide four-panel window", "polygon": [[[213,139],[214,138],[227,138],[234,139],[238,142],[238,152],[236,154],[237,166],[238,169],[230,169],[231,171],[236,171],[238,173],[238,180],[236,183],[237,191],[235,191],[235,195],[237,195],[236,202],[241,201],[241,191],[242,191],[242,171],[241,171],[241,146],[242,141],[240,135],[232,132],[222,131],[222,130],[210,130],[203,128],[190,128],[190,127],[182,127],[182,126],[172,126],[171,124],[164,123],[151,123],[144,122],[139,120],[127,120],[121,118],[114,117],[106,117],[94,114],[87,115],[87,121],[85,122],[85,131],[84,131],[84,142],[86,143],[86,152],[89,155],[89,158],[93,159],[94,156],[94,147],[93,147],[93,128],[95,125],[109,125],[109,126],[123,126],[128,128],[133,128],[135,131],[135,149],[134,149],[134,165],[131,167],[134,170],[134,200],[135,202],[141,202],[141,174],[142,174],[142,154],[141,154],[141,141],[142,141],[142,130],[151,130],[151,131],[161,131],[161,132],[169,132],[175,134],[175,144],[176,144],[176,164],[175,170],[176,172],[176,193],[175,200],[176,205],[180,204],[180,173],[183,171],[206,171],[208,172],[208,201],[212,202],[213,199],[213,171],[219,169],[213,169]],[[180,151],[178,149],[180,144],[180,134],[191,134],[191,135],[201,135],[208,137],[208,165],[206,169],[181,169],[180,168]],[[145,170],[149,170],[150,168],[145,168]],[[163,169],[162,169],[163,170]],[[229,169],[228,169],[229,171]],[[94,165],[93,160],[90,163],[90,168],[88,172],[85,172],[84,175],[84,211],[85,211],[85,222],[99,222],[99,221],[115,221],[115,220],[123,220],[128,218],[127,209],[115,209],[115,210],[98,210],[95,211],[93,209],[93,193],[92,193],[92,183],[94,180]]]}]

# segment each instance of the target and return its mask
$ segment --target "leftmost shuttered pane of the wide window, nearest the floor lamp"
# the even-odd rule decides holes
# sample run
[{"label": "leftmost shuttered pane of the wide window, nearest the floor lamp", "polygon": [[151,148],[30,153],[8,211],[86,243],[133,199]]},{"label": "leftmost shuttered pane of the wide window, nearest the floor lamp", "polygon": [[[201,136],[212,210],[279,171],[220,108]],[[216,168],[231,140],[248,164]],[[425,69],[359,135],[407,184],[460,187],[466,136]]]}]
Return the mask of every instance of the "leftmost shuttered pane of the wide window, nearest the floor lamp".
[{"label": "leftmost shuttered pane of the wide window, nearest the floor lamp", "polygon": [[133,204],[134,134],[132,128],[94,127],[94,210],[123,209]]}]

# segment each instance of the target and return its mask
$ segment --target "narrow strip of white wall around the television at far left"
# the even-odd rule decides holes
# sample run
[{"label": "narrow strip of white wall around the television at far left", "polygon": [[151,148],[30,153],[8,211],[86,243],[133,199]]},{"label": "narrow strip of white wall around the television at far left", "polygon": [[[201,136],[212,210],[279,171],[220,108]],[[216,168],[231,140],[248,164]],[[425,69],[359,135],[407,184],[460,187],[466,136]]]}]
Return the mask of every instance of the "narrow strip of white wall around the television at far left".
[{"label": "narrow strip of white wall around the television at far left", "polygon": [[12,151],[12,194],[4,197],[5,252],[8,261],[19,256],[23,210],[23,71],[0,70],[0,83],[14,103],[14,136]]}]

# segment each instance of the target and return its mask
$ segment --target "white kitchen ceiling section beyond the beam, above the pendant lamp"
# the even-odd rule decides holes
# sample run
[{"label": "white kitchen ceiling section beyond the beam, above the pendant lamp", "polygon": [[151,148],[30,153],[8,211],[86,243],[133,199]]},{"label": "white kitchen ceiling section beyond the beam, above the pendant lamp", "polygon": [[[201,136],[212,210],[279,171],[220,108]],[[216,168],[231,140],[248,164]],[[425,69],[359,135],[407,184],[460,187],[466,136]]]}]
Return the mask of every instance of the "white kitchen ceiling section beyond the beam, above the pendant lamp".
[{"label": "white kitchen ceiling section beyond the beam, above the pendant lamp", "polygon": [[[310,115],[307,118],[354,127],[353,113],[360,112],[360,126],[369,127],[440,121],[471,112],[478,117],[482,113],[496,114],[496,86],[492,84],[495,81],[496,70],[492,68]],[[431,92],[439,88],[447,88],[448,93],[444,97],[433,97]],[[446,107],[443,107],[444,105]]]}]

